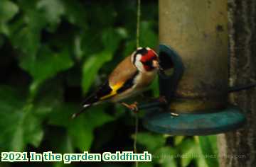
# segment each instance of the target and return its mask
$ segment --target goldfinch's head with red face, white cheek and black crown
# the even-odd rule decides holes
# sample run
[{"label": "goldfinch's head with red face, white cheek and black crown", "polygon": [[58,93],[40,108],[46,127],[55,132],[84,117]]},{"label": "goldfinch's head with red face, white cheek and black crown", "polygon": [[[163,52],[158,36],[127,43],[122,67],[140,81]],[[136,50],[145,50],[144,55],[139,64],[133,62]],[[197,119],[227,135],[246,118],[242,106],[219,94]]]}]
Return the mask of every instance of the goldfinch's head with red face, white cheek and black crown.
[{"label": "goldfinch's head with red face, white cheek and black crown", "polygon": [[159,69],[159,58],[149,47],[139,47],[132,54],[132,63],[139,71],[149,72]]}]

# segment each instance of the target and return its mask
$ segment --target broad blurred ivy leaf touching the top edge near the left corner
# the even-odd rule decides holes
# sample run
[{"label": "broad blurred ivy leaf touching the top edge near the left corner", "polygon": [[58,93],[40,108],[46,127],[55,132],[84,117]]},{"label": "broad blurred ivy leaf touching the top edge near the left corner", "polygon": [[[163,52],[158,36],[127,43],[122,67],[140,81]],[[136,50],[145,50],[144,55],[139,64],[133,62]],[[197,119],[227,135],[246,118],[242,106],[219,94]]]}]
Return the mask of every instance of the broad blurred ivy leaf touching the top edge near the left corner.
[{"label": "broad blurred ivy leaf touching the top edge near the left corner", "polygon": [[36,9],[37,1],[18,1],[22,15],[10,25],[10,40],[12,45],[23,54],[35,59],[41,44],[41,30],[47,21],[43,13]]}]

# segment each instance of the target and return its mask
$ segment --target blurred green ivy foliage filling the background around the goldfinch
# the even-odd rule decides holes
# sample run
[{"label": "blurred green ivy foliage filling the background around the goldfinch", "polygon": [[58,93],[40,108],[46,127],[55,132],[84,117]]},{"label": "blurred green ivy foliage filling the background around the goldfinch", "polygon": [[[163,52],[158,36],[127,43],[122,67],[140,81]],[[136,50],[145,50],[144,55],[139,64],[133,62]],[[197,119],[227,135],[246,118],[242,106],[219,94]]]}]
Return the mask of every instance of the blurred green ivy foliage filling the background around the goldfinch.
[{"label": "blurred green ivy foliage filling the background around the goldfinch", "polygon": [[[124,0],[0,0],[0,151],[133,150],[134,117],[122,106],[106,103],[70,116],[135,50],[136,10],[136,1]],[[156,48],[157,30],[157,1],[142,1],[141,45]],[[156,80],[146,95],[158,93]],[[137,142],[154,158],[139,166],[218,166],[216,157],[206,157],[218,154],[215,136],[171,137],[139,124]]]}]

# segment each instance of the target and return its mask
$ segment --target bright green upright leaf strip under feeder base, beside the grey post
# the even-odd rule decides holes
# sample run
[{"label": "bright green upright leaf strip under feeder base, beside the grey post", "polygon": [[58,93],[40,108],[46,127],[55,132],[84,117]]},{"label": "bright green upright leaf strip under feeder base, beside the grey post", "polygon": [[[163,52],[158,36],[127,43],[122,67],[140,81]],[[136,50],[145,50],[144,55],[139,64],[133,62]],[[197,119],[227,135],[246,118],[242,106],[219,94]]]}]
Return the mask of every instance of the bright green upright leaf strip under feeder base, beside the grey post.
[{"label": "bright green upright leaf strip under feeder base, beside the grey post", "polygon": [[208,166],[218,167],[216,138],[217,138],[216,136],[198,137],[201,151],[203,153],[203,156],[205,157],[205,160]]}]

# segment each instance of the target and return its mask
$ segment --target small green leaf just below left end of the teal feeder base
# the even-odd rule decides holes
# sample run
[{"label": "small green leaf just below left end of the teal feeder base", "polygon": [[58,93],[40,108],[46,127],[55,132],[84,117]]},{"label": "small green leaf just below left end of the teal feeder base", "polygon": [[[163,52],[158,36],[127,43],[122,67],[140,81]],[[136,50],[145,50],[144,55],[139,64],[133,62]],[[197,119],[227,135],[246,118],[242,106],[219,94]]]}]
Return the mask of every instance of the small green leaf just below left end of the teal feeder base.
[{"label": "small green leaf just below left end of the teal feeder base", "polygon": [[161,146],[164,146],[166,139],[162,134],[141,132],[137,134],[137,142],[142,144],[151,152],[154,152]]}]

